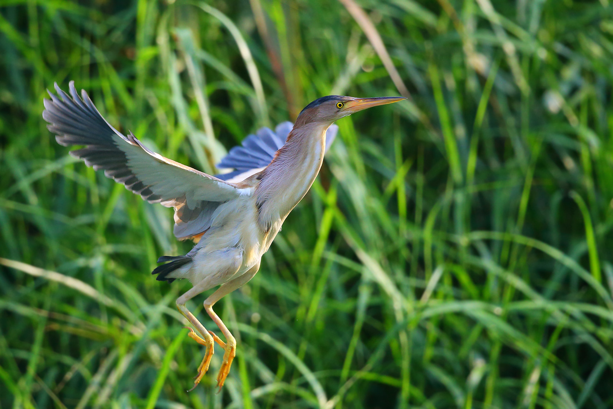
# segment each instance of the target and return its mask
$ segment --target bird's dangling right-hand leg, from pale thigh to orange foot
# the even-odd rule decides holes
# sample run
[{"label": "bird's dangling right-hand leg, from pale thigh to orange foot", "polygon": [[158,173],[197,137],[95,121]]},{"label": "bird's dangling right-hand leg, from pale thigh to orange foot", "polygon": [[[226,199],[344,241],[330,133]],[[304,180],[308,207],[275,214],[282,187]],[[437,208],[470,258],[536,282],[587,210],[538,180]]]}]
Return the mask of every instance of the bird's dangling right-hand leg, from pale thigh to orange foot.
[{"label": "bird's dangling right-hand leg, from pale thigh to orange foot", "polygon": [[204,309],[208,313],[208,315],[215,321],[215,324],[221,329],[224,337],[226,337],[226,342],[223,342],[219,337],[213,332],[210,332],[210,335],[215,339],[221,348],[224,348],[224,360],[221,364],[221,368],[219,368],[219,373],[217,375],[217,387],[218,391],[221,391],[221,387],[224,386],[224,382],[226,381],[226,377],[228,373],[230,373],[230,366],[232,366],[232,360],[236,356],[236,340],[227,329],[226,324],[221,321],[221,318],[213,311],[213,304],[218,302],[221,297],[229,294],[240,286],[244,285],[247,281],[251,280],[254,275],[256,275],[257,270],[259,269],[259,264],[252,267],[248,272],[241,275],[240,277],[234,278],[234,280],[230,280],[227,283],[223,284],[221,287],[217,289],[217,291],[213,292],[210,297],[208,297],[204,302]]}]

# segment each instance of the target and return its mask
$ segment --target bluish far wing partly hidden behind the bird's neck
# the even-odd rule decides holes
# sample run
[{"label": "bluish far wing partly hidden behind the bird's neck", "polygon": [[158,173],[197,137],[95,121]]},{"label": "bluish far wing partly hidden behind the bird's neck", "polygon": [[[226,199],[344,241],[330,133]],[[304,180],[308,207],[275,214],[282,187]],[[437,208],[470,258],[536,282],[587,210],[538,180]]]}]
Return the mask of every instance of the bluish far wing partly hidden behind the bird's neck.
[{"label": "bluish far wing partly hidden behind the bird's neck", "polygon": [[[216,175],[226,182],[241,182],[268,166],[287,140],[294,124],[289,121],[278,124],[273,132],[270,128],[260,128],[256,134],[245,137],[242,146],[230,149],[217,165],[219,169],[234,169],[227,174]],[[326,132],[326,151],[337,136],[338,126],[332,124]]]}]

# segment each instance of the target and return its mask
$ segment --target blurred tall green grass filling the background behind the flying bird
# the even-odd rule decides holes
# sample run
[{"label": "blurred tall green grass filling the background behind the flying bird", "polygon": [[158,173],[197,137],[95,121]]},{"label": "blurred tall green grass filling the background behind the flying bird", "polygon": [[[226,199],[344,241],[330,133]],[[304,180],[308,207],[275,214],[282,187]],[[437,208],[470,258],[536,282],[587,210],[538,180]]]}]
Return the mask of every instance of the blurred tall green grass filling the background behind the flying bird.
[{"label": "blurred tall green grass filling the background behind the flying bird", "polygon": [[70,158],[45,88],[213,172],[316,97],[398,94],[394,70],[348,0],[125,3],[0,1],[1,408],[613,407],[609,0],[360,0],[412,98],[338,122],[217,305],[218,395],[219,349],[185,392],[189,283],[149,274],[189,250],[171,211]]}]

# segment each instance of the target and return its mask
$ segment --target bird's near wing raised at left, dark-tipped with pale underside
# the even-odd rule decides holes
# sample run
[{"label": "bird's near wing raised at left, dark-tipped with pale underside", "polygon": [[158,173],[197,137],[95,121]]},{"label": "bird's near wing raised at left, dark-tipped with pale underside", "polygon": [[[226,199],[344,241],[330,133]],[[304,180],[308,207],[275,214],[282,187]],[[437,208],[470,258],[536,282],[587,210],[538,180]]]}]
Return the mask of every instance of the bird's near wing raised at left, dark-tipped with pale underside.
[{"label": "bird's near wing raised at left, dark-tipped with pale underside", "polygon": [[150,203],[175,208],[174,234],[188,239],[208,229],[215,209],[242,194],[232,183],[164,158],[143,145],[130,133],[124,136],[98,112],[85,90],[78,96],[74,81],[70,96],[55,84],[58,95],[49,93],[42,117],[60,145],[85,145],[70,151],[106,177],[123,183]]}]

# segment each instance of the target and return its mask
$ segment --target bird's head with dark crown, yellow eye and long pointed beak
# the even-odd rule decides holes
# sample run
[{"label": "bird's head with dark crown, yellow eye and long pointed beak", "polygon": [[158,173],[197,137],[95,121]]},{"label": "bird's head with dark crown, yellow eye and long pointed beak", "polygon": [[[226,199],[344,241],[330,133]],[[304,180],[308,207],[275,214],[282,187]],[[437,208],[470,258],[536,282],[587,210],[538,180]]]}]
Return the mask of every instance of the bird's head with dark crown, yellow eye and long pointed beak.
[{"label": "bird's head with dark crown, yellow eye and long pointed beak", "polygon": [[328,123],[332,124],[340,118],[351,115],[377,105],[391,104],[406,99],[399,96],[384,96],[374,98],[354,98],[351,96],[329,95],[316,99],[300,112],[297,124]]}]

